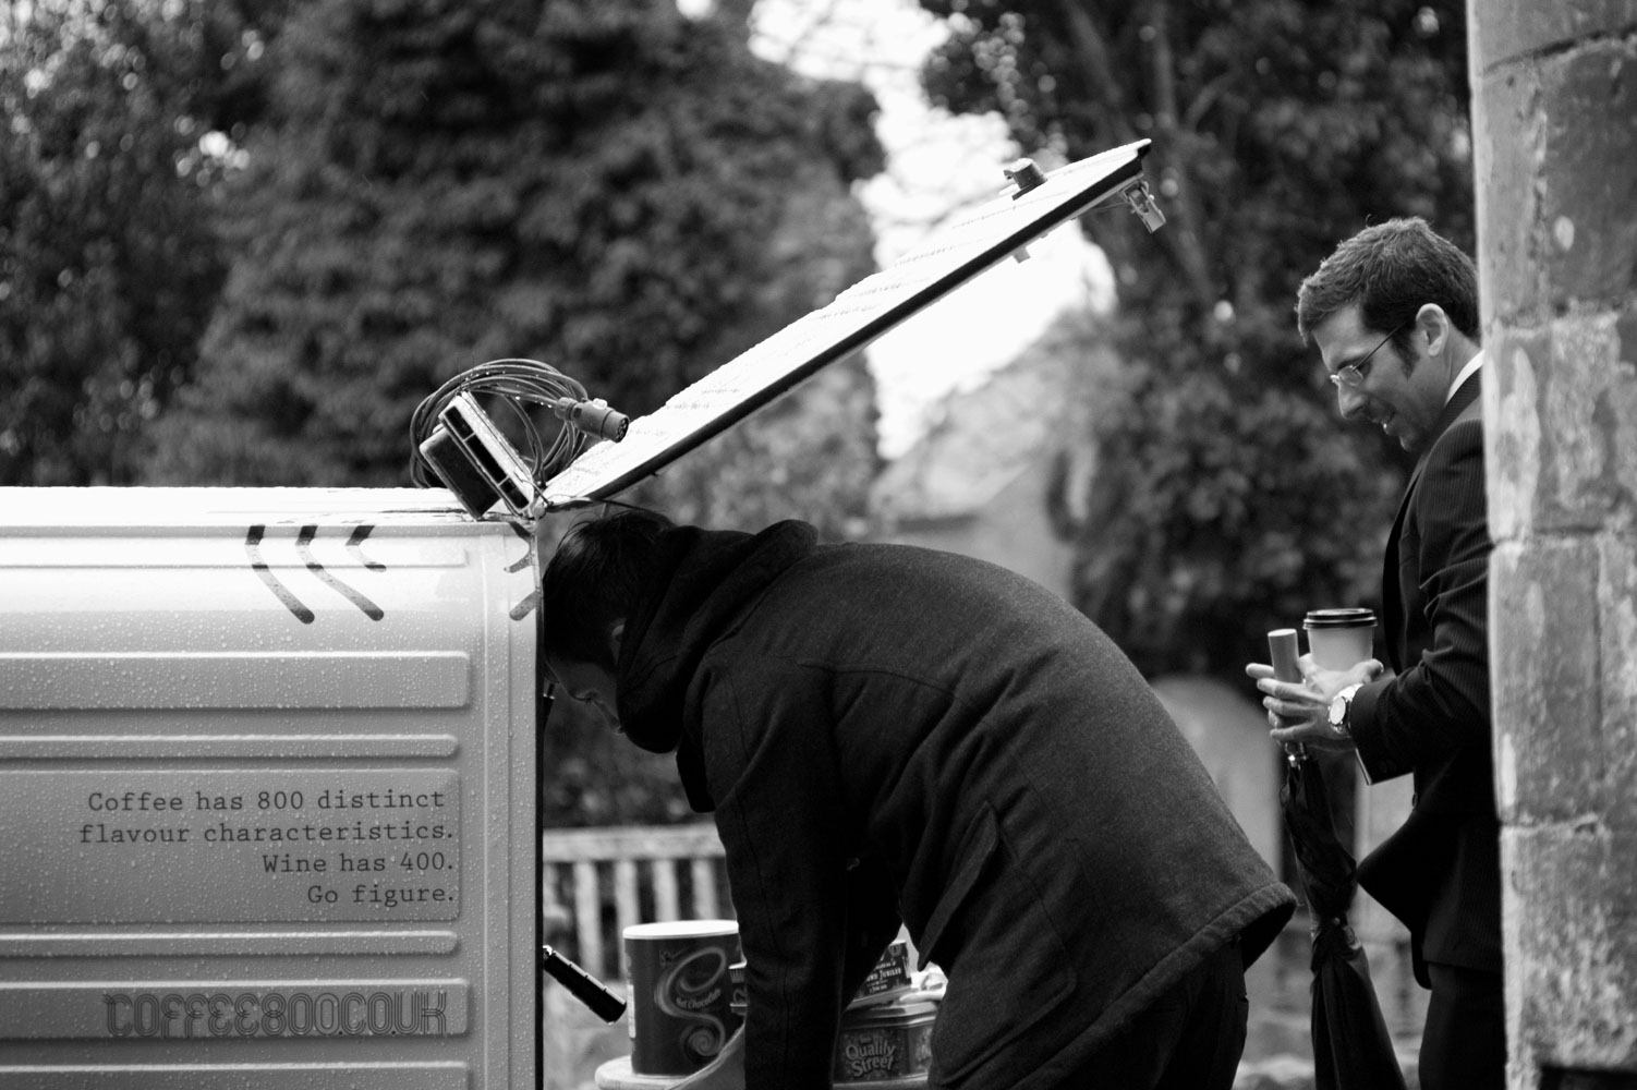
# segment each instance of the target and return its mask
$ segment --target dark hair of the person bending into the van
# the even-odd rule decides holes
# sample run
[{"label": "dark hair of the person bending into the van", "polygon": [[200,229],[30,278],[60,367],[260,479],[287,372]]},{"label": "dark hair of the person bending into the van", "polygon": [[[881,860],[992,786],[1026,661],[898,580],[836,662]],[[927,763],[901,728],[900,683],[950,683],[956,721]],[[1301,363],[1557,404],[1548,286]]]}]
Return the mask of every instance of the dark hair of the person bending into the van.
[{"label": "dark hair of the person bending into the van", "polygon": [[607,635],[629,617],[674,524],[635,507],[576,522],[540,571],[542,651],[614,669]]}]

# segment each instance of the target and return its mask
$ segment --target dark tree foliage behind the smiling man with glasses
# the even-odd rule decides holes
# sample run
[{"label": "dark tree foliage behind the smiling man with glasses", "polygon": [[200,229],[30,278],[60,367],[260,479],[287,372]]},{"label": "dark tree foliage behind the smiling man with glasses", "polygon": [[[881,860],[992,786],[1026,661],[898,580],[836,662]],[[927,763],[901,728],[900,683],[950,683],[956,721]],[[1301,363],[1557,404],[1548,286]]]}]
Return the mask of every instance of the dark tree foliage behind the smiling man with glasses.
[{"label": "dark tree foliage behind the smiling man with glasses", "polygon": [[1463,8],[1454,0],[922,0],[923,79],[1025,149],[1152,139],[1169,223],[1098,213],[1125,381],[1098,471],[1058,516],[1082,607],[1144,669],[1236,674],[1262,632],[1375,601],[1405,458],[1341,424],[1295,334],[1301,277],[1372,221],[1470,249]]}]

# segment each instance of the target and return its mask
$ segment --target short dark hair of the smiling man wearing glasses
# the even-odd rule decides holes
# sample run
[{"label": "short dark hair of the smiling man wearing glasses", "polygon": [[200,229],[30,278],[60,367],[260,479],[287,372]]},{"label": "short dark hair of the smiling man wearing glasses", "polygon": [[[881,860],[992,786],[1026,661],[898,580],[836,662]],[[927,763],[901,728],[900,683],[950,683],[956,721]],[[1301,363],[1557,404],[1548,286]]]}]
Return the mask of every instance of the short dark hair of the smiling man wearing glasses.
[{"label": "short dark hair of the smiling man wearing glasses", "polygon": [[1297,329],[1311,340],[1313,327],[1357,303],[1365,329],[1393,336],[1393,347],[1411,357],[1411,322],[1426,303],[1437,303],[1449,321],[1478,342],[1478,268],[1460,247],[1411,216],[1365,227],[1336,247],[1297,293]]}]

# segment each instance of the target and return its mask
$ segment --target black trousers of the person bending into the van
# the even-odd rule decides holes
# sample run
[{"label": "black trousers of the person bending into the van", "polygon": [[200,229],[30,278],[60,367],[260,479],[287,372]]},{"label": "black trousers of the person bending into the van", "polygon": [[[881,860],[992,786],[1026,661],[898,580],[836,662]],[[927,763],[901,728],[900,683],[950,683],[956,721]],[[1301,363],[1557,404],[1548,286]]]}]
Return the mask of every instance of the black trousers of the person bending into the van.
[{"label": "black trousers of the person bending into the van", "polygon": [[1062,1087],[1229,1090],[1244,1054],[1251,1000],[1234,939],[1133,1020]]}]

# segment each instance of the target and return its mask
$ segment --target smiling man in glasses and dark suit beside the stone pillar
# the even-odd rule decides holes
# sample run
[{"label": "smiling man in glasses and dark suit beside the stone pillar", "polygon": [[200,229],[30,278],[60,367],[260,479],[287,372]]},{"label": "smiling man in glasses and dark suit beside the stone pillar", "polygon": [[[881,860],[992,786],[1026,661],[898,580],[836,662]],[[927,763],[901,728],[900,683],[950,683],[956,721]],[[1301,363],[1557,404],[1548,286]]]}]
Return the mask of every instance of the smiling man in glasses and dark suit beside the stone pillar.
[{"label": "smiling man in glasses and dark suit beside the stone pillar", "polygon": [[1393,673],[1359,663],[1303,682],[1247,673],[1280,743],[1355,750],[1370,782],[1414,776],[1403,827],[1359,884],[1411,935],[1429,987],[1421,1085],[1501,1087],[1499,823],[1490,756],[1488,563],[1478,286],[1472,259],[1421,219],[1342,242],[1301,283],[1297,326],[1318,345],[1341,414],[1419,455],[1382,574]]}]

